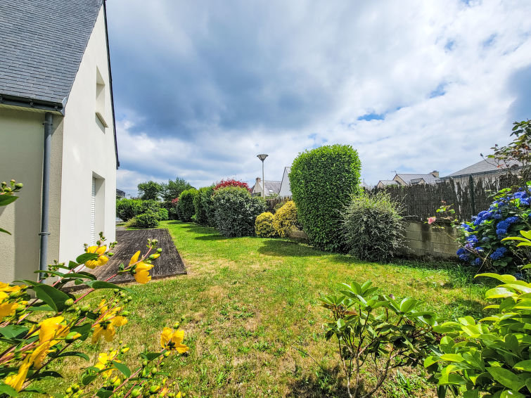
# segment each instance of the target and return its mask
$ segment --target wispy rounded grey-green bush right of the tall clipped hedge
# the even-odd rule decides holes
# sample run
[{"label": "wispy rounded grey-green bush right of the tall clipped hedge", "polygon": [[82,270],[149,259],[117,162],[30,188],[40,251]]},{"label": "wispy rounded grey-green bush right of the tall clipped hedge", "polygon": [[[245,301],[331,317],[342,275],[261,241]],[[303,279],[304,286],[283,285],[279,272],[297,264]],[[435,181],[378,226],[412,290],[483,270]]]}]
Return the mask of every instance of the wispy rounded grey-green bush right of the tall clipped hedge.
[{"label": "wispy rounded grey-green bush right of the tall clipped hedge", "polygon": [[397,254],[403,230],[399,205],[383,191],[353,196],[343,212],[345,243],[359,259],[388,261]]}]

